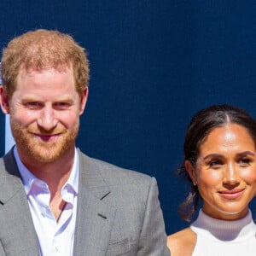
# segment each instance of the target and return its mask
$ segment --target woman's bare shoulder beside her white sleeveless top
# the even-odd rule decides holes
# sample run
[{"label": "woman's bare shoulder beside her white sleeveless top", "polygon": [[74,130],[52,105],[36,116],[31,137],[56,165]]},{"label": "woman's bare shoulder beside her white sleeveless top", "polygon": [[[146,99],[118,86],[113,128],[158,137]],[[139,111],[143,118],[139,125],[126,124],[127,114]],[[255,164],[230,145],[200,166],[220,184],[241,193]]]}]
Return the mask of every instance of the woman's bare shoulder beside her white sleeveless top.
[{"label": "woman's bare shoulder beside her white sleeveless top", "polygon": [[167,246],[171,250],[172,256],[191,256],[196,243],[196,234],[190,228],[180,230],[168,236]]}]

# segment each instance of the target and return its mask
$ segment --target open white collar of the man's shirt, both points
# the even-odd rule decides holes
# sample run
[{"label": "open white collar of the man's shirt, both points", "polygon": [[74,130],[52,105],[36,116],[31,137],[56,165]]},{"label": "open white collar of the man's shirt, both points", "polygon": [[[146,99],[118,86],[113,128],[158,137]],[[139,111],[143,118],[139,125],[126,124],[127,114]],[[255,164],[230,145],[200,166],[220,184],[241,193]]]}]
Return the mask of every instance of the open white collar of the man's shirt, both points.
[{"label": "open white collar of the man's shirt, both points", "polygon": [[[22,183],[26,191],[26,195],[28,195],[30,192],[30,189],[32,188],[32,183],[34,183],[35,181],[42,182],[42,183],[44,182],[38,179],[38,177],[35,177],[32,174],[32,172],[30,172],[26,168],[26,166],[20,160],[20,156],[18,154],[18,150],[16,147],[14,148],[14,154],[15,154],[15,160],[16,160],[18,169],[20,171]],[[67,183],[64,184],[61,193],[63,192],[63,189],[68,189],[68,188],[72,188],[75,194],[78,194],[79,192],[79,154],[78,154],[77,148],[75,148],[72,171],[70,173],[70,176],[67,179]]]}]

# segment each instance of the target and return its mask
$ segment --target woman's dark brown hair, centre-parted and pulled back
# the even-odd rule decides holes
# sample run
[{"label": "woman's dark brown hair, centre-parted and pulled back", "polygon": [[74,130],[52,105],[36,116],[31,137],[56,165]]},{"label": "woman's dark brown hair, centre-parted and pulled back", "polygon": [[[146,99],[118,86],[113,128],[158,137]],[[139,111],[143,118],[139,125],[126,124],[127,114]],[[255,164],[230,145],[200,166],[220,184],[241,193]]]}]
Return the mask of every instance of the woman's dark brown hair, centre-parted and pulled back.
[{"label": "woman's dark brown hair, centre-parted and pulled back", "polygon": [[191,221],[191,217],[201,200],[201,195],[199,194],[197,186],[193,185],[185,169],[184,162],[185,160],[189,160],[192,166],[195,167],[202,141],[213,129],[227,124],[236,124],[244,127],[253,138],[253,142],[256,145],[256,122],[241,108],[232,107],[227,104],[213,105],[195,113],[189,122],[183,144],[184,161],[178,170],[178,175],[184,176],[190,183],[189,195],[179,207],[179,213],[186,221]]}]

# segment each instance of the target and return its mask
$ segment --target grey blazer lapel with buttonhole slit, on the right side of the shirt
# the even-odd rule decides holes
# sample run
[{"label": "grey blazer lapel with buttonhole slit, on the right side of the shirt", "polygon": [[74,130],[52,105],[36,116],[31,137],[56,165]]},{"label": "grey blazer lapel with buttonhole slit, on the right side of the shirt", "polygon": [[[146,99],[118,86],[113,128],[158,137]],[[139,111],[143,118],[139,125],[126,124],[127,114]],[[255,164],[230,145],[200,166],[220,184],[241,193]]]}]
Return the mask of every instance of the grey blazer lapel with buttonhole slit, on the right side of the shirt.
[{"label": "grey blazer lapel with buttonhole slit, on the right side of the shirt", "polygon": [[115,207],[93,160],[79,154],[80,178],[74,255],[101,256],[108,250]]}]

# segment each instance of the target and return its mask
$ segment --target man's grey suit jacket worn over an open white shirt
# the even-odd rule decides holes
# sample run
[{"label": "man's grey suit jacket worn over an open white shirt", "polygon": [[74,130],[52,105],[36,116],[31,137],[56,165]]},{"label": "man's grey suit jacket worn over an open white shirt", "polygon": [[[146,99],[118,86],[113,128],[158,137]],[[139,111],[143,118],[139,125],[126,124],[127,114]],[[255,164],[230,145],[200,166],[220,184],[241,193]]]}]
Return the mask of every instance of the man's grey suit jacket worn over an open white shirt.
[{"label": "man's grey suit jacket worn over an open white shirt", "polygon": [[[75,256],[170,255],[154,177],[79,151]],[[13,151],[0,159],[0,256],[39,256]]]}]

